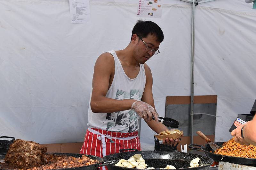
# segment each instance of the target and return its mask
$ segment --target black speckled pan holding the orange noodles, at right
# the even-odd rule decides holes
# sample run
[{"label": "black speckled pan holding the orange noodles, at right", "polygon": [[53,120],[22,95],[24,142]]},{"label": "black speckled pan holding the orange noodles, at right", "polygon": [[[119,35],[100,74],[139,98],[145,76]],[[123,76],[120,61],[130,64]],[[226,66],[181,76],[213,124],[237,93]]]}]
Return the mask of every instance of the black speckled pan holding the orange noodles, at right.
[{"label": "black speckled pan holding the orange noodles, at right", "polygon": [[[224,142],[215,142],[215,144],[219,145],[220,147],[222,147],[223,143]],[[199,147],[193,147],[193,146],[199,146]],[[230,162],[230,163],[240,164],[240,165],[256,166],[256,159],[253,159],[253,158],[240,158],[240,157],[225,156],[225,155],[213,153],[213,150],[209,144],[205,144],[205,145],[190,144],[188,145],[188,147],[191,149],[199,149],[199,150],[201,149],[202,151],[204,151],[207,157],[212,158],[216,162],[222,161],[222,162]]]}]

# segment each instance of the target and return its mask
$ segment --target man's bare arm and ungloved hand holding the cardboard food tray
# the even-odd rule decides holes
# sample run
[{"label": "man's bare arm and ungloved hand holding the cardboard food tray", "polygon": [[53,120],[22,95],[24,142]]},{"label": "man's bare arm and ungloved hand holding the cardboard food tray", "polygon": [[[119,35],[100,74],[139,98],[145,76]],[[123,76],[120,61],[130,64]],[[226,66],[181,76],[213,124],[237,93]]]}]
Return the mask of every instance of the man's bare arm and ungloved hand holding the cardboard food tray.
[{"label": "man's bare arm and ungloved hand holding the cardboard food tray", "polygon": [[[146,73],[146,85],[145,85],[144,93],[143,93],[141,100],[143,102],[150,104],[156,110],[155,104],[154,104],[154,99],[153,99],[153,93],[152,93],[152,86],[153,86],[152,73],[147,64],[144,64],[144,67],[145,67],[145,73]],[[154,121],[154,120],[146,121],[146,123],[156,133],[160,133],[162,131],[168,130],[168,128],[164,124],[156,123],[156,121]],[[168,144],[168,145],[170,145],[171,143],[174,144],[175,142],[179,143],[180,140],[176,139],[174,141],[173,139],[169,139],[169,138],[166,138],[166,140],[163,140],[163,143]]]}]

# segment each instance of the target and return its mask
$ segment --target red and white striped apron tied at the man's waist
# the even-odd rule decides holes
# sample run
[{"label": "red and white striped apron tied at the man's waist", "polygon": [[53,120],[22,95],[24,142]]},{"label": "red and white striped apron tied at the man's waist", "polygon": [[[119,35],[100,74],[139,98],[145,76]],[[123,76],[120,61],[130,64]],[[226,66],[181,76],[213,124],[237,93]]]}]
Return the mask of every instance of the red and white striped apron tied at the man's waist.
[{"label": "red and white striped apron tied at the man's waist", "polygon": [[[80,153],[102,158],[109,154],[118,153],[119,149],[132,148],[141,151],[138,131],[132,133],[121,133],[104,131],[97,128],[88,128]],[[104,170],[105,166],[100,167],[100,169]]]}]

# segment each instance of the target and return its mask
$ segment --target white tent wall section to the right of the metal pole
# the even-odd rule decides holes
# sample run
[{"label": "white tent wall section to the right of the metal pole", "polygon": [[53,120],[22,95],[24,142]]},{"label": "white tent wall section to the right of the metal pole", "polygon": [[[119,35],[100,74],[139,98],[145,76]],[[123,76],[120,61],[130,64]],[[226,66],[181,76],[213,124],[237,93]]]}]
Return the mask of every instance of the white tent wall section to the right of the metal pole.
[{"label": "white tent wall section to the right of the metal pole", "polygon": [[215,140],[227,141],[256,98],[256,15],[207,7],[196,15],[195,94],[218,95]]}]

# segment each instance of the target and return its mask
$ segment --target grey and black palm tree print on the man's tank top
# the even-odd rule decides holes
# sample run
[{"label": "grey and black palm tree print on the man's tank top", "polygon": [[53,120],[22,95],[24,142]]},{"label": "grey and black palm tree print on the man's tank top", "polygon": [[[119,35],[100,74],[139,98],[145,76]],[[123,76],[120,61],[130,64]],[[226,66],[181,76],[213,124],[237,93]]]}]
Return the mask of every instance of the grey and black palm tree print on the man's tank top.
[{"label": "grey and black palm tree print on the man's tank top", "polygon": [[[116,90],[116,100],[135,99],[141,100],[143,91],[140,89],[131,89],[130,92]],[[108,113],[106,131],[133,132],[139,129],[137,113],[134,110],[124,110]]]}]

